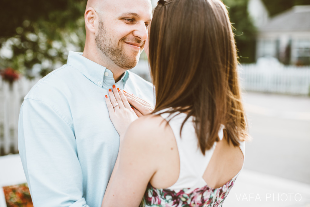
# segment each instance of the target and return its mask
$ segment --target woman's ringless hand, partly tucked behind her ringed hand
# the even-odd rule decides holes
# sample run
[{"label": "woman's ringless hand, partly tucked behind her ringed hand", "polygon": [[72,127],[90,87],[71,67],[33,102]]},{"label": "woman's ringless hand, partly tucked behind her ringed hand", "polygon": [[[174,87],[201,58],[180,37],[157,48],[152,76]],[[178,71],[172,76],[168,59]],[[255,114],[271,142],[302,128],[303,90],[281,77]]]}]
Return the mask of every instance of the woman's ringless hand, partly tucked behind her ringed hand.
[{"label": "woman's ringless hand, partly tucked behind her ringed hand", "polygon": [[148,102],[142,100],[139,97],[136,97],[133,94],[129,94],[127,92],[125,92],[124,95],[127,98],[128,102],[131,104],[131,106],[135,107],[136,110],[134,111],[138,117],[144,116],[144,115],[147,115],[153,112],[154,107]]}]

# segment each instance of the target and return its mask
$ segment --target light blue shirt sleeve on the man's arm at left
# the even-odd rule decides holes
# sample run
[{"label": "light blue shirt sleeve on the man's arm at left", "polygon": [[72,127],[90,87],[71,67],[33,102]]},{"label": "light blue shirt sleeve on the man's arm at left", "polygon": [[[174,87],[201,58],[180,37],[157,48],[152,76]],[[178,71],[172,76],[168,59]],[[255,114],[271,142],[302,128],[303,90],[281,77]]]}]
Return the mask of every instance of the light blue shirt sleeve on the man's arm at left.
[{"label": "light blue shirt sleeve on the man's arm at left", "polygon": [[34,206],[89,207],[72,127],[55,107],[25,99],[18,148]]}]

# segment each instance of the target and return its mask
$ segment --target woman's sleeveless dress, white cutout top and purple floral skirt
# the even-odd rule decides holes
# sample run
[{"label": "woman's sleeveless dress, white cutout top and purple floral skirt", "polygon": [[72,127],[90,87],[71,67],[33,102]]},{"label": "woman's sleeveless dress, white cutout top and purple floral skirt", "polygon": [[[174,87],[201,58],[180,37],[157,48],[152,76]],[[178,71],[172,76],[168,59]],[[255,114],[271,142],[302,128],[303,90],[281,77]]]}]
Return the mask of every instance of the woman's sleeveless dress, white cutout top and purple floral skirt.
[{"label": "woman's sleeveless dress, white cutout top and purple floral skirt", "polygon": [[[161,116],[170,120],[169,125],[175,135],[180,159],[179,178],[173,186],[165,189],[155,188],[148,183],[139,207],[221,207],[240,172],[222,187],[209,187],[202,176],[213,155],[216,142],[203,155],[200,149],[197,149],[198,139],[193,136],[195,135],[193,118],[185,122],[180,137],[180,127],[186,114],[169,116],[165,113]],[[222,125],[219,129],[220,140],[223,139],[224,128]],[[244,156],[244,142],[240,142],[240,149]]]}]

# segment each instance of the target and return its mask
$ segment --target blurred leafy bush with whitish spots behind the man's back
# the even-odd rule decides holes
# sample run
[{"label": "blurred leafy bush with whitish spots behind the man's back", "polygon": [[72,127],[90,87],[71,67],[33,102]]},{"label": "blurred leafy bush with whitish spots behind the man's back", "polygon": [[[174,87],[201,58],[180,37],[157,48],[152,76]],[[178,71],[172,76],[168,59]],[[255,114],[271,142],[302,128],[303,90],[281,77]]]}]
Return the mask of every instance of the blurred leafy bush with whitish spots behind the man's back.
[{"label": "blurred leafy bush with whitish spots behind the man's back", "polygon": [[4,0],[2,5],[0,47],[7,54],[0,56],[0,69],[12,67],[31,78],[37,68],[43,76],[66,62],[68,48],[82,50],[86,0]]}]

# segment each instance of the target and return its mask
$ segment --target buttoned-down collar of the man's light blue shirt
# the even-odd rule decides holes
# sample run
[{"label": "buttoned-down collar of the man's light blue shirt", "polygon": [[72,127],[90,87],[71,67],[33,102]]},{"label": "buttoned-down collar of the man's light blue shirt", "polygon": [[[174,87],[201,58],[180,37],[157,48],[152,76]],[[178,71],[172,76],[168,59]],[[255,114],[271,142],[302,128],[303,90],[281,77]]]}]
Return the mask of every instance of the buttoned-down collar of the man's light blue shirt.
[{"label": "buttoned-down collar of the man's light blue shirt", "polygon": [[[95,63],[82,55],[82,52],[69,51],[67,65],[71,65],[76,68],[86,78],[99,87],[106,86],[110,88],[113,84],[115,84],[111,70],[108,70],[106,67],[99,65],[98,63]],[[128,78],[129,73],[126,70],[119,82],[122,82],[122,85],[125,86]]]}]

